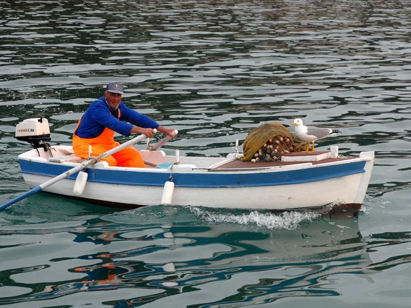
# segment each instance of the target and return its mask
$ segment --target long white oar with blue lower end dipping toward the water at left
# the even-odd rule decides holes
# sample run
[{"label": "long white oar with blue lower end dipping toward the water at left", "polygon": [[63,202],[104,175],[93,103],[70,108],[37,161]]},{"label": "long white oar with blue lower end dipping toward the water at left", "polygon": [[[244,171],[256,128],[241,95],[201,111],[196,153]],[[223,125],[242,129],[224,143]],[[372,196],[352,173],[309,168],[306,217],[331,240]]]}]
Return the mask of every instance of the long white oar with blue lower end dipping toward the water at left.
[{"label": "long white oar with blue lower end dipping toward the water at left", "polygon": [[[154,129],[154,131],[156,132],[157,129]],[[91,157],[88,160],[85,160],[84,162],[81,163],[81,165],[74,167],[72,169],[67,170],[66,172],[63,172],[61,175],[52,178],[51,180],[48,180],[47,182],[44,182],[43,184],[40,184],[39,186],[36,186],[32,189],[30,189],[29,191],[25,192],[23,195],[18,196],[12,200],[10,200],[9,202],[6,202],[5,204],[0,206],[0,210],[4,210],[5,208],[9,207],[10,205],[13,205],[14,203],[23,200],[33,194],[35,194],[36,192],[39,192],[41,190],[43,190],[44,188],[47,188],[48,186],[59,182],[60,180],[63,180],[65,178],[67,178],[68,176],[71,176],[72,174],[75,174],[76,172],[79,172],[91,165],[94,165],[95,163],[97,163],[98,161],[102,160],[103,158],[106,158],[107,156],[113,155],[114,153],[126,148],[127,146],[133,145],[137,142],[140,142],[141,140],[144,140],[145,138],[147,138],[145,136],[145,134],[141,134],[140,136],[133,138],[132,140],[129,140],[127,142],[124,142],[118,146],[116,146],[115,148],[112,148],[111,150],[108,150],[104,153],[102,153],[101,155],[99,155],[98,157]]]}]

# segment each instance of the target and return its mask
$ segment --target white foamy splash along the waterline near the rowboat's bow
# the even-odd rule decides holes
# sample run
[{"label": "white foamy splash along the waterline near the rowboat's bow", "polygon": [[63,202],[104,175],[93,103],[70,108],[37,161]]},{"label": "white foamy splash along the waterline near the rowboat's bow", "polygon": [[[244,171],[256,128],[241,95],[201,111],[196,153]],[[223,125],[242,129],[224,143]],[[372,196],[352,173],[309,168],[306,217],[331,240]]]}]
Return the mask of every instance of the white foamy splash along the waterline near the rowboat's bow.
[{"label": "white foamy splash along the waterline near the rowboat's bow", "polygon": [[[311,222],[322,216],[317,211],[283,211],[272,213],[270,211],[230,211],[223,209],[210,209],[191,207],[190,210],[199,219],[216,223],[237,223],[241,225],[257,225],[267,229],[295,230],[302,223]],[[238,213],[240,212],[240,213]]]}]

